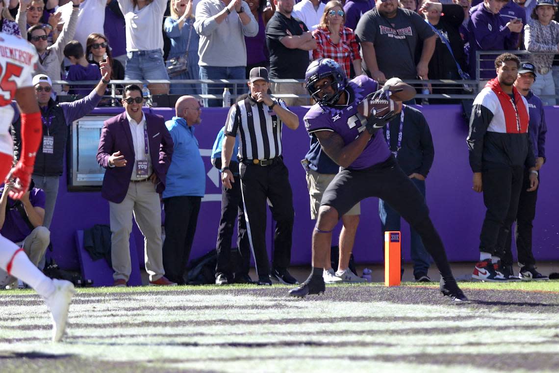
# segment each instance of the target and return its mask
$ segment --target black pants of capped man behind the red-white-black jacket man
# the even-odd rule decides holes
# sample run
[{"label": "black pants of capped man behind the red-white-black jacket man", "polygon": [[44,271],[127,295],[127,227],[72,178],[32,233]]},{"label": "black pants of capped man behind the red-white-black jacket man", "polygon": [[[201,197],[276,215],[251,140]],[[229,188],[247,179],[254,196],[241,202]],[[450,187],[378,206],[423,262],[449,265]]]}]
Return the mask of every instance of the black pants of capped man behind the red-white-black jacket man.
[{"label": "black pants of capped man behind the red-white-black jacket man", "polygon": [[[517,229],[515,239],[517,242],[518,263],[522,266],[533,266],[536,264],[532,253],[532,221],[536,217],[536,201],[538,200],[538,189],[528,192],[530,188],[530,172],[524,169],[524,180],[522,189],[520,189],[520,199],[518,200],[517,211]],[[538,180],[539,177],[538,177]],[[505,254],[503,263],[505,265],[513,264],[513,253],[510,249],[511,235],[506,236]]]}]

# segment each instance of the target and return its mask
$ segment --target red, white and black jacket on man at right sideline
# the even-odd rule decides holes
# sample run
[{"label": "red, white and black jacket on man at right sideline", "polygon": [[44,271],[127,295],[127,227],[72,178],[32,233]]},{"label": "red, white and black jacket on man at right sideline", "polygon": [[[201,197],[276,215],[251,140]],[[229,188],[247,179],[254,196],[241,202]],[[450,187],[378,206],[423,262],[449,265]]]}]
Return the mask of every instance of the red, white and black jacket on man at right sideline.
[{"label": "red, white and black jacket on man at right sideline", "polygon": [[513,87],[514,100],[497,78],[473,101],[467,143],[473,172],[503,166],[534,167],[528,134],[528,102]]}]

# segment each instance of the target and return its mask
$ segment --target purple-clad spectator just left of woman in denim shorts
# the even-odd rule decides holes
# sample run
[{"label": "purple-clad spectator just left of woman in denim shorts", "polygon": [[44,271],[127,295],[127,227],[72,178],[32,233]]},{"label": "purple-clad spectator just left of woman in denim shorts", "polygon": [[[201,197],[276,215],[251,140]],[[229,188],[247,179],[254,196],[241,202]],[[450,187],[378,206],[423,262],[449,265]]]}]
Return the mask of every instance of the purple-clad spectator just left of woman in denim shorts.
[{"label": "purple-clad spectator just left of woman in denim shorts", "polygon": [[118,60],[122,67],[126,68],[126,22],[124,15],[119,8],[116,0],[107,0],[108,4],[105,8],[105,30],[104,34],[108,40],[111,40],[111,56]]}]

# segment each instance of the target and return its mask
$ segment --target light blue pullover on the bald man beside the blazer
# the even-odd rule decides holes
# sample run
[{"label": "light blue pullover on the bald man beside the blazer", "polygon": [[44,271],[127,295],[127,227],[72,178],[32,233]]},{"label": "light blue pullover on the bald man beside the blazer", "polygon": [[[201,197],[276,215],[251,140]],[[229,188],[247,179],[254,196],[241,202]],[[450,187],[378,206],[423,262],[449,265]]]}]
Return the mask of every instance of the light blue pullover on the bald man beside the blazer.
[{"label": "light blue pullover on the bald man beside the blazer", "polygon": [[163,198],[177,196],[203,197],[206,191],[206,167],[200,155],[195,128],[186,120],[174,116],[165,122],[173,139],[173,158],[167,171]]}]

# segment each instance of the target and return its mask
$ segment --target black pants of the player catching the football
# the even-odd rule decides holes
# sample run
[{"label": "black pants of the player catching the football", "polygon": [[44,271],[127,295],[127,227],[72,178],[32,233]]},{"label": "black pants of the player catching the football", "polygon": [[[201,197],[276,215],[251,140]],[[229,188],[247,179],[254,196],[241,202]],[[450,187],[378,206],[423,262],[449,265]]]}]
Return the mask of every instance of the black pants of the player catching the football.
[{"label": "black pants of the player catching the football", "polygon": [[342,216],[357,202],[368,197],[382,199],[408,221],[421,237],[440,275],[445,280],[453,278],[443,242],[429,218],[425,197],[394,157],[366,169],[342,169],[326,188],[321,205],[334,207]]}]

